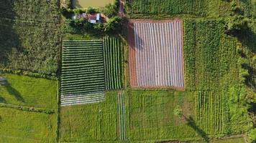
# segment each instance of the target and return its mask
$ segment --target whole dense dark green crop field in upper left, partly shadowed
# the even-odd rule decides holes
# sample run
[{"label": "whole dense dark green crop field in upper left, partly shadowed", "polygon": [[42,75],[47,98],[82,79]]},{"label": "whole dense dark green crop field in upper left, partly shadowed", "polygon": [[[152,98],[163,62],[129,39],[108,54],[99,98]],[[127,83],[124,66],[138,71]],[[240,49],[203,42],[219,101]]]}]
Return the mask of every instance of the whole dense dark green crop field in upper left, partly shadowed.
[{"label": "whole dense dark green crop field in upper left, partly shadowed", "polygon": [[58,0],[0,2],[0,69],[56,74],[59,9]]}]

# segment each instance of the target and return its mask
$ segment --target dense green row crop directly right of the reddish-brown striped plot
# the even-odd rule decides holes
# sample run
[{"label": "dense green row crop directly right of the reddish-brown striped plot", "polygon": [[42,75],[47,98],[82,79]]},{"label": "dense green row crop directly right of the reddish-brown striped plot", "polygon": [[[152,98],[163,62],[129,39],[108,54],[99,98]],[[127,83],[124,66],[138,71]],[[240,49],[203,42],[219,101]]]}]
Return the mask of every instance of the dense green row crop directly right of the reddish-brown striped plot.
[{"label": "dense green row crop directly right of the reddish-brown striped plot", "polygon": [[220,21],[185,21],[184,55],[187,90],[219,90],[229,73],[235,42]]}]

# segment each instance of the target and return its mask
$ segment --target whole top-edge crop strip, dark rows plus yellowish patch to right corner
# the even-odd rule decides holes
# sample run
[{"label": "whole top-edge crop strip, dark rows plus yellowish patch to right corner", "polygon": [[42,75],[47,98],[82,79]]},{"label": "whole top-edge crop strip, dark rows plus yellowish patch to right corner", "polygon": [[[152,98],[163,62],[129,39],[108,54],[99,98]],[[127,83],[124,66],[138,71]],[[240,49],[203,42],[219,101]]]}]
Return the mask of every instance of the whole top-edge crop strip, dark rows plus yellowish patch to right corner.
[{"label": "whole top-edge crop strip, dark rows plus yellowish patch to right corner", "polygon": [[132,18],[254,16],[255,5],[255,0],[129,0],[126,10]]}]

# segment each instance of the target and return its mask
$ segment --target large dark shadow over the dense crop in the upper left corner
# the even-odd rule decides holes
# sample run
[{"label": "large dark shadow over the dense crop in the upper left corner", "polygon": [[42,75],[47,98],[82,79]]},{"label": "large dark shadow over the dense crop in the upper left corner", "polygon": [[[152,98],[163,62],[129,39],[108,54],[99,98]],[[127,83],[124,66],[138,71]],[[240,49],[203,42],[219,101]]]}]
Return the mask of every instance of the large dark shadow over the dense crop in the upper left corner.
[{"label": "large dark shadow over the dense crop in the upper left corner", "polygon": [[[17,15],[14,11],[14,2],[0,1],[0,66],[2,67],[9,66],[20,51],[23,51],[19,36],[14,29]],[[11,55],[13,59],[9,59]]]}]

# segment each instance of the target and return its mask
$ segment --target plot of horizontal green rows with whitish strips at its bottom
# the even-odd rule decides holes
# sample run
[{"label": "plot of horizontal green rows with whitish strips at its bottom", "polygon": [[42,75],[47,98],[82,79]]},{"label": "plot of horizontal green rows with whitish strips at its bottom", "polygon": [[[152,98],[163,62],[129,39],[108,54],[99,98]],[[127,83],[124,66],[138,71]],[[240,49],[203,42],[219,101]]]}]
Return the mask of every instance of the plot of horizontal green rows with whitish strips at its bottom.
[{"label": "plot of horizontal green rows with whitish strips at its bottom", "polygon": [[61,104],[104,100],[104,56],[101,40],[63,41]]}]

